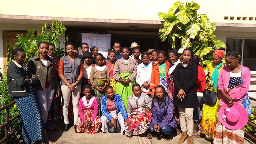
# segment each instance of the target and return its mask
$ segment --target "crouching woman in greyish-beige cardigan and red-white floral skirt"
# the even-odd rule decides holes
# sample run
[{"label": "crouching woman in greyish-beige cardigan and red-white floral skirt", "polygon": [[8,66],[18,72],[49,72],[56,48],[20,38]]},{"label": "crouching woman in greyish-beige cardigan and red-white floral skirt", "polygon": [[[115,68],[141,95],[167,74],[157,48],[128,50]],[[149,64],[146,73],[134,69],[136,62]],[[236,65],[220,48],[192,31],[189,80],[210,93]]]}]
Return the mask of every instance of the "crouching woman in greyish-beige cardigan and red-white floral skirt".
[{"label": "crouching woman in greyish-beige cardigan and red-white floral skirt", "polygon": [[[127,99],[127,115],[131,125],[125,128],[125,134],[130,137],[146,132],[151,121],[150,98],[147,94],[141,92],[138,83],[132,85],[132,92],[134,94]],[[147,134],[147,138],[152,138],[150,133]]]}]

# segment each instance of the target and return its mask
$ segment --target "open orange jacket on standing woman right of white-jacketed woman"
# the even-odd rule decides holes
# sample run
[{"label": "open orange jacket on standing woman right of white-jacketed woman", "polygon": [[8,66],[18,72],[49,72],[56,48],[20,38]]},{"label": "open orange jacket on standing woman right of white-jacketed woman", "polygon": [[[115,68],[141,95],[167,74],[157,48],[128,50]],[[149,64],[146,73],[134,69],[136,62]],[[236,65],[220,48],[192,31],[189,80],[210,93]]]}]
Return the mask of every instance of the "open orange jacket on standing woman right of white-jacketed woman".
[{"label": "open orange jacket on standing woman right of white-jacketed woman", "polygon": [[[165,61],[166,77],[168,76],[169,67],[170,67],[170,63],[168,61]],[[155,87],[159,85],[159,83],[160,83],[160,75],[159,75],[159,67],[158,67],[158,63],[157,63],[152,68],[151,80],[150,80],[150,86],[149,86],[150,94],[151,94],[152,90],[155,89]]]}]

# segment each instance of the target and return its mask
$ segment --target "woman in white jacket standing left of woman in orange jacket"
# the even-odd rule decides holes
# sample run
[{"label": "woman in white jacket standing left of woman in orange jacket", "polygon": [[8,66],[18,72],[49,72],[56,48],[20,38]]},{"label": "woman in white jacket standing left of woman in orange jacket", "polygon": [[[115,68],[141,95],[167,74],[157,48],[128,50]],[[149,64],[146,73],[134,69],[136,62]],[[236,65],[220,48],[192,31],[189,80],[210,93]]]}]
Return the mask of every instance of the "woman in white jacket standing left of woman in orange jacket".
[{"label": "woman in white jacket standing left of woman in orange jacket", "polygon": [[[141,87],[141,91],[147,95],[149,94],[150,78],[152,73],[152,63],[148,62],[149,54],[144,52],[141,54],[143,63],[137,65],[136,83]],[[152,99],[152,98],[151,98]]]}]

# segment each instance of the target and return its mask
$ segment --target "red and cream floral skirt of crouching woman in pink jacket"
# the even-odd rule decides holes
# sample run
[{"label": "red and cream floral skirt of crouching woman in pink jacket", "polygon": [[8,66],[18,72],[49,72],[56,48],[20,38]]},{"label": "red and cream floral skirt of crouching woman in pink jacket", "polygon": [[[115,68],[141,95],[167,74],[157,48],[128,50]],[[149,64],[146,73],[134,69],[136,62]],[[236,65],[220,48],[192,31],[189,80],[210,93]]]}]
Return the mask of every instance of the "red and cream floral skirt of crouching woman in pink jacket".
[{"label": "red and cream floral skirt of crouching woman in pink jacket", "polygon": [[[93,110],[84,110],[83,116],[87,122],[91,121],[91,117],[93,117]],[[99,132],[99,126],[101,126],[101,119],[97,116],[91,126],[86,128],[85,123],[83,122],[82,118],[79,116],[78,120],[76,121],[76,131],[78,133],[89,133],[94,134]]]}]

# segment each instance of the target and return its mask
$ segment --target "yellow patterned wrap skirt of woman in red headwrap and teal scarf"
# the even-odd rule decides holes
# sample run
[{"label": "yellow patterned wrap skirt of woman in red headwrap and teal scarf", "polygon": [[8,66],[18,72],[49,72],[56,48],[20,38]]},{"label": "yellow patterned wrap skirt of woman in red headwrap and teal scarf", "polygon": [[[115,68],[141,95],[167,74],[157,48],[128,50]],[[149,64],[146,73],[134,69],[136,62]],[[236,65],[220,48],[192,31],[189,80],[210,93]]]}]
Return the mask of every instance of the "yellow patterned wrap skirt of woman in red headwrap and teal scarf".
[{"label": "yellow patterned wrap skirt of woman in red headwrap and teal scarf", "polygon": [[202,109],[201,133],[205,134],[206,139],[212,140],[214,138],[218,103],[219,100],[221,99],[221,95],[218,90],[212,90],[211,86],[208,83],[206,84],[206,90],[218,93],[215,105],[204,103]]}]

